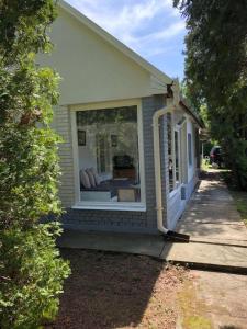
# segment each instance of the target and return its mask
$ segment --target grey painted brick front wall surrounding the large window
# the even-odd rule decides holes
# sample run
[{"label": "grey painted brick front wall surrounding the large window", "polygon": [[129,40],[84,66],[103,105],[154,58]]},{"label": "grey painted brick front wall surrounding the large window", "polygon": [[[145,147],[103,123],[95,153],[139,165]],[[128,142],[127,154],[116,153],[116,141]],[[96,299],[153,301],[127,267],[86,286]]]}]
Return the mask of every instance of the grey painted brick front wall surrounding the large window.
[{"label": "grey painted brick front wall surrounding the large window", "polygon": [[165,98],[161,95],[144,98],[142,100],[146,212],[71,209],[75,202],[75,188],[70,116],[67,107],[59,107],[56,118],[56,129],[65,139],[59,150],[63,170],[60,197],[67,211],[61,217],[65,227],[126,232],[157,232],[151,123],[154,112],[162,107],[164,104]]}]

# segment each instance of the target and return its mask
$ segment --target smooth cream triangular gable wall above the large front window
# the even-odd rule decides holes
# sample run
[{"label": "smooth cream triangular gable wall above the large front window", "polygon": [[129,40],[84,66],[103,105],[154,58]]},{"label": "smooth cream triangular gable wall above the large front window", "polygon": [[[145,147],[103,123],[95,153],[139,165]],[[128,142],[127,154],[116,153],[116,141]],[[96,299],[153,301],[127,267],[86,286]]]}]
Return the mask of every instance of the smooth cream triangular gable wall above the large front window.
[{"label": "smooth cream triangular gable wall above the large front window", "polygon": [[50,37],[54,50],[49,56],[42,56],[38,63],[59,72],[60,104],[146,97],[156,88],[166,91],[158,81],[154,84],[150,72],[63,9]]}]

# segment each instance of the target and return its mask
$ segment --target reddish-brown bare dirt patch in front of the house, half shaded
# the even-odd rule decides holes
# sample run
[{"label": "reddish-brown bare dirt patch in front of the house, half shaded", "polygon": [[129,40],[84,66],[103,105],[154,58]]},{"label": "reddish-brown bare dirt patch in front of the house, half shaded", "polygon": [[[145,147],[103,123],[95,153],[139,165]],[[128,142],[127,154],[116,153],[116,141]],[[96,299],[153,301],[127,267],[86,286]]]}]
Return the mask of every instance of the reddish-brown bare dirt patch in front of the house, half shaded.
[{"label": "reddish-brown bare dirt patch in front of the house, half shaded", "polygon": [[143,257],[63,249],[72,274],[46,329],[176,328],[178,292],[189,272]]}]

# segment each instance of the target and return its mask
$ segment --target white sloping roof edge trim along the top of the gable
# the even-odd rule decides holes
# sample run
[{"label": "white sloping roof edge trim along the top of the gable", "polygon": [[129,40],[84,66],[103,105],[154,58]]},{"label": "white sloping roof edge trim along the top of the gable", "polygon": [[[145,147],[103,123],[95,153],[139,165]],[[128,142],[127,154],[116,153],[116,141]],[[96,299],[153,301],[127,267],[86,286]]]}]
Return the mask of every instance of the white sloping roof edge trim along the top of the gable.
[{"label": "white sloping roof edge trim along the top of the gable", "polygon": [[68,4],[66,1],[60,0],[58,2],[58,5],[64,9],[65,11],[69,12],[75,19],[77,19],[80,23],[86,25],[88,29],[93,31],[96,34],[101,36],[105,42],[114,46],[116,49],[122,52],[125,56],[134,60],[137,65],[139,65],[142,68],[150,72],[151,76],[156,77],[158,80],[164,82],[165,84],[171,84],[172,79],[169,78],[166,73],[157,69],[154,65],[151,65],[149,61],[144,59],[142,56],[136,54],[134,50],[128,48],[126,45],[121,43],[117,38],[112,36],[110,33],[104,31],[102,27],[97,25],[94,22],[89,20],[86,15],[83,15],[80,11]]}]

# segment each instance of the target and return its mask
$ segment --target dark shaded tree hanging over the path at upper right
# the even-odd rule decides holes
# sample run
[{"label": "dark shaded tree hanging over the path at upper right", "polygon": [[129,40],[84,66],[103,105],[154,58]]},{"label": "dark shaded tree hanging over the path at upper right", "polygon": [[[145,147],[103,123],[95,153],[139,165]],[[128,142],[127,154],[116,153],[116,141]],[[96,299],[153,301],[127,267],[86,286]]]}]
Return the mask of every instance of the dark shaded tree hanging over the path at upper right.
[{"label": "dark shaded tree hanging over the path at upper right", "polygon": [[[247,1],[175,0],[187,20],[186,81],[247,189]],[[205,114],[205,113],[204,113]]]}]

